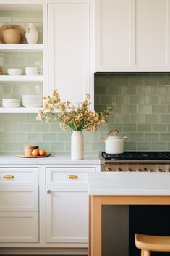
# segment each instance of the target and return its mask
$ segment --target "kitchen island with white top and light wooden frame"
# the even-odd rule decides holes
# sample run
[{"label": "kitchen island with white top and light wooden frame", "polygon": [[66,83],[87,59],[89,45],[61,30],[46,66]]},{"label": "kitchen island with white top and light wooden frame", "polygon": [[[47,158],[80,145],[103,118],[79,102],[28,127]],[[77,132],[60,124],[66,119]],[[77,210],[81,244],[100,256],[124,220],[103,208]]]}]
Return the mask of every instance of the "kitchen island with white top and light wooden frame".
[{"label": "kitchen island with white top and light wooden frame", "polygon": [[88,173],[89,255],[102,255],[103,205],[170,205],[169,173]]}]

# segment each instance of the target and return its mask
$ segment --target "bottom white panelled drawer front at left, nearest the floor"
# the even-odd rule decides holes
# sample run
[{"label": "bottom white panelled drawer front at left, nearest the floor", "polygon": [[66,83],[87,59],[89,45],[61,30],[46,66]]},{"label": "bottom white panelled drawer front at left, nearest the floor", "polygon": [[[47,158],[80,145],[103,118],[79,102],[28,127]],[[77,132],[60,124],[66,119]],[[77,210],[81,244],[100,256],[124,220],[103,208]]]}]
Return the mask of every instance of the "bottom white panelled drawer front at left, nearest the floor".
[{"label": "bottom white panelled drawer front at left, nearest the floor", "polygon": [[0,242],[38,242],[38,212],[0,212]]}]

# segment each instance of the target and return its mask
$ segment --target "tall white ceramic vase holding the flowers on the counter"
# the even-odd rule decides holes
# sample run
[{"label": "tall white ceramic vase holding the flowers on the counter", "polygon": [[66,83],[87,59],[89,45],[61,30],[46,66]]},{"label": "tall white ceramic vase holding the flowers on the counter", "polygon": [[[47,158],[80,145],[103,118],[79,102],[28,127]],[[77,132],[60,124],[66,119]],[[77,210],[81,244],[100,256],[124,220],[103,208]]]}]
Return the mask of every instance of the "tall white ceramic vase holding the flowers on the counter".
[{"label": "tall white ceramic vase holding the flowers on the counter", "polygon": [[72,131],[71,138],[71,158],[80,160],[84,157],[84,141],[82,131]]}]

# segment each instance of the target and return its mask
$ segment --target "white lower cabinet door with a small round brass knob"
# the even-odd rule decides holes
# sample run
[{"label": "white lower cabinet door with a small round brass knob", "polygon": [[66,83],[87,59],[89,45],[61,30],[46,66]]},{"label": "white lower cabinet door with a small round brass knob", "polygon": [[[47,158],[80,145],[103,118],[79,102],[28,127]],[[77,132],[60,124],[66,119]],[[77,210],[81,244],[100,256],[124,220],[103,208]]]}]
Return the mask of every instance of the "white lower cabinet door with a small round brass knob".
[{"label": "white lower cabinet door with a small round brass knob", "polygon": [[87,187],[50,186],[46,192],[46,242],[87,244]]}]

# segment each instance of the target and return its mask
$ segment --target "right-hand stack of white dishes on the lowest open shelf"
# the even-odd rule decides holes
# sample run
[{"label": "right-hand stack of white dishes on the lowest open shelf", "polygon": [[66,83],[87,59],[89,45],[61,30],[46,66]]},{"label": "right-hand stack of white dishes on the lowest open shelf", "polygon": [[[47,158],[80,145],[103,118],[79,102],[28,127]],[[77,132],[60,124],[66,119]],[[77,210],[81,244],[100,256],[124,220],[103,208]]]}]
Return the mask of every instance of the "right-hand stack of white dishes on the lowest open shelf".
[{"label": "right-hand stack of white dishes on the lowest open shelf", "polygon": [[23,94],[22,105],[24,107],[42,107],[43,95],[42,94]]}]

